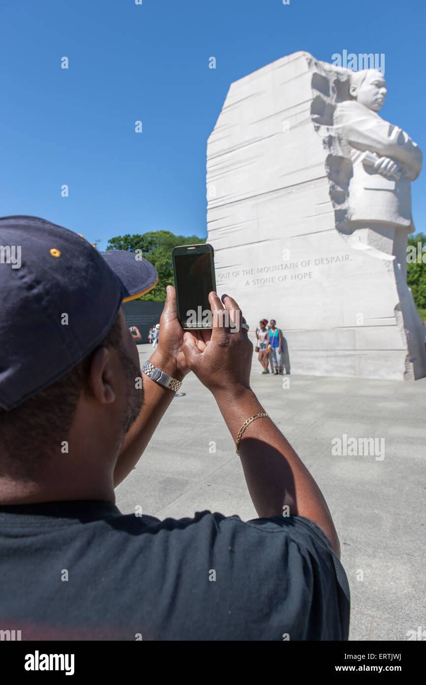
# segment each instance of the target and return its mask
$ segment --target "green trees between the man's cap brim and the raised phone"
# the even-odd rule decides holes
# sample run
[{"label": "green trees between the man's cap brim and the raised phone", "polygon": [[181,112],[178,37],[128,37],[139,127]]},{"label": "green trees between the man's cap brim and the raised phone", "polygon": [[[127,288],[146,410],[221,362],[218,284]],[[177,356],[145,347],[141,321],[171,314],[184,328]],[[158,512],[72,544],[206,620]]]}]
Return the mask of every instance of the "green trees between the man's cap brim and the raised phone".
[{"label": "green trees between the man's cap brim and the raised phone", "polygon": [[157,269],[158,283],[146,295],[137,299],[165,300],[165,288],[174,285],[172,250],[177,245],[200,245],[207,238],[198,236],[175,236],[170,231],[150,231],[148,233],[126,234],[108,240],[107,250],[142,250],[142,256]]}]

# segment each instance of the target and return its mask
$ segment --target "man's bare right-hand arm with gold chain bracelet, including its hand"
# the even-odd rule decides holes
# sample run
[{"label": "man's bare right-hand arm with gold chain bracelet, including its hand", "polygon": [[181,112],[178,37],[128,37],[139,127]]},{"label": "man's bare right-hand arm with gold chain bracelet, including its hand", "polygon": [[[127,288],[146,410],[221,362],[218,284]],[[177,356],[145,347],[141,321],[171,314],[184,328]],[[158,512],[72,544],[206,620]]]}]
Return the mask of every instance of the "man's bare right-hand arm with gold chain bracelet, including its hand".
[{"label": "man's bare right-hand arm with gold chain bracelet, including its hand", "polygon": [[[183,351],[189,368],[213,393],[235,441],[243,423],[265,410],[250,388],[253,345],[241,329],[239,306],[228,295],[223,296],[226,308],[237,311],[240,317],[239,333],[230,334],[229,329],[217,326],[215,320],[215,311],[223,309],[219,297],[212,292],[209,300],[213,311],[209,345],[187,332]],[[282,516],[288,506],[289,514],[299,514],[317,523],[340,556],[336,529],[321,490],[271,419],[259,418],[248,425],[239,454],[258,516]]]}]

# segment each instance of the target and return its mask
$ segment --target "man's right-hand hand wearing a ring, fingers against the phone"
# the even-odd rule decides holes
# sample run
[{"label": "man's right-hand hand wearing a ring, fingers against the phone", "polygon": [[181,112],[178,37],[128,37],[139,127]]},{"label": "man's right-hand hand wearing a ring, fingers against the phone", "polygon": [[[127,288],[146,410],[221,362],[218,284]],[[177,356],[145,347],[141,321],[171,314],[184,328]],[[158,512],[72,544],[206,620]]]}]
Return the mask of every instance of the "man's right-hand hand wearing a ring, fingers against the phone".
[{"label": "man's right-hand hand wearing a ring, fingers against the phone", "polygon": [[[185,332],[183,338],[183,351],[189,369],[194,371],[213,395],[223,391],[238,394],[241,390],[250,388],[253,345],[247,331],[241,328],[241,323],[245,323],[245,320],[235,299],[223,295],[222,301],[215,292],[209,294],[213,329],[197,332],[198,335]],[[224,325],[230,323],[229,317],[235,324],[237,333],[231,333],[230,326]],[[204,333],[207,333],[210,340]]]}]

